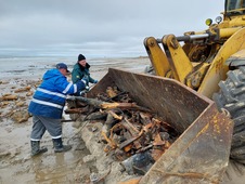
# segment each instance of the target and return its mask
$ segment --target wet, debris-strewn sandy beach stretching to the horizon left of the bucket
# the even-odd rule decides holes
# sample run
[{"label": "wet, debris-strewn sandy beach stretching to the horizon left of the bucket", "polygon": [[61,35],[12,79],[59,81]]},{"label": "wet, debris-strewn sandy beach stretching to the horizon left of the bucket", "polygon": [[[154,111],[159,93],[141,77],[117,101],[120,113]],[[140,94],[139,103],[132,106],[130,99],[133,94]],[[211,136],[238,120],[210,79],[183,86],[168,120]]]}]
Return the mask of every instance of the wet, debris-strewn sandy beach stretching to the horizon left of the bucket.
[{"label": "wet, debris-strewn sandy beach stretching to the horizon left of the bucket", "polygon": [[[44,71],[59,62],[66,63],[70,70],[76,63],[73,58],[57,57],[0,58],[0,184],[86,183],[89,180],[85,180],[85,173],[95,169],[83,163],[88,149],[72,122],[63,123],[63,140],[73,145],[70,152],[54,154],[51,136],[47,132],[41,145],[48,147],[48,153],[30,157],[33,119],[27,113],[28,104]],[[98,80],[108,68],[143,73],[150,64],[147,57],[93,58],[87,62],[91,65],[91,76]],[[68,116],[64,115],[64,118],[68,119]]]}]

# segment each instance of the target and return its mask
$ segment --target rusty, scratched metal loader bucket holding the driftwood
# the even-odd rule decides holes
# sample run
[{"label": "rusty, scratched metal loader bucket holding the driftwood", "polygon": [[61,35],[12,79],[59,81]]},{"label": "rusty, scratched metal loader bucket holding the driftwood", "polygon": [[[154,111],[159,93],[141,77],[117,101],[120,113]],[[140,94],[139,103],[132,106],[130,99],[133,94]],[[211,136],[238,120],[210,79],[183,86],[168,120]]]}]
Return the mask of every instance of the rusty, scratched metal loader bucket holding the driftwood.
[{"label": "rusty, scratched metal loader bucket holding the driftwood", "polygon": [[140,183],[220,182],[229,162],[233,122],[211,100],[172,79],[113,68],[88,97],[114,84],[181,133]]}]

